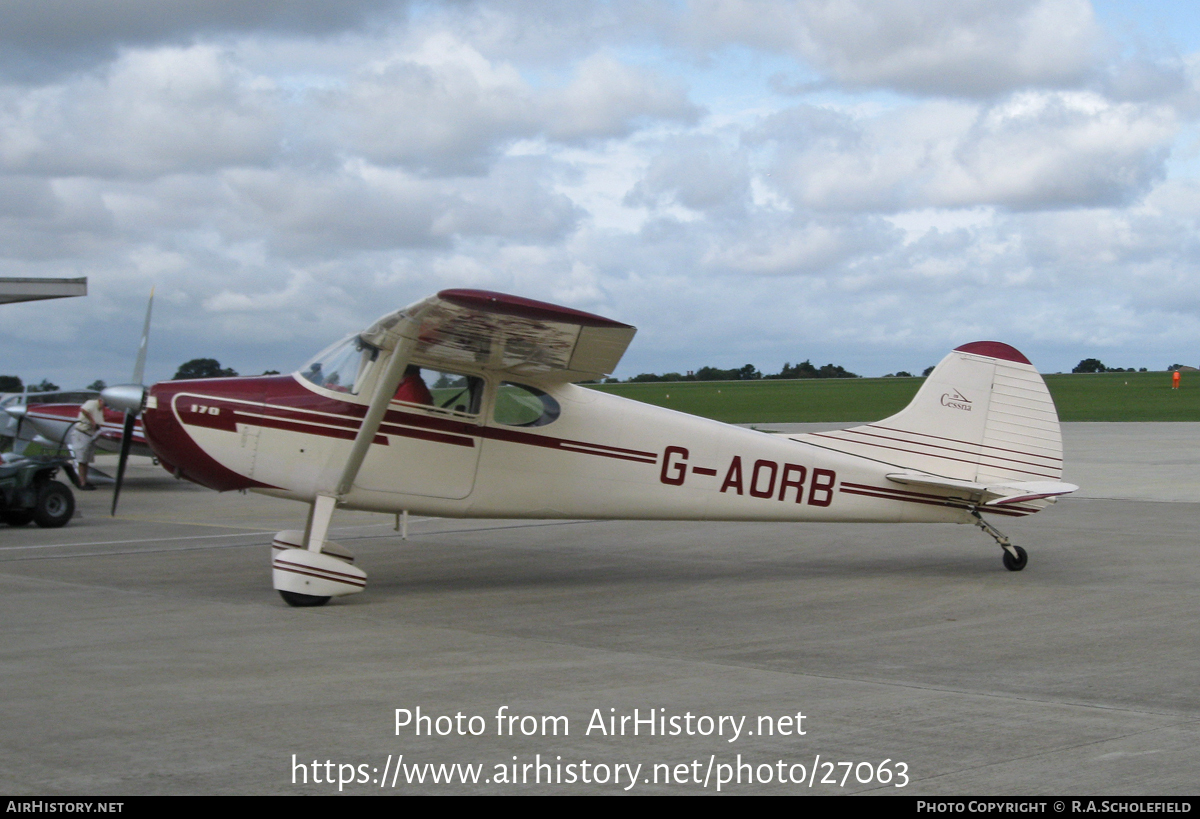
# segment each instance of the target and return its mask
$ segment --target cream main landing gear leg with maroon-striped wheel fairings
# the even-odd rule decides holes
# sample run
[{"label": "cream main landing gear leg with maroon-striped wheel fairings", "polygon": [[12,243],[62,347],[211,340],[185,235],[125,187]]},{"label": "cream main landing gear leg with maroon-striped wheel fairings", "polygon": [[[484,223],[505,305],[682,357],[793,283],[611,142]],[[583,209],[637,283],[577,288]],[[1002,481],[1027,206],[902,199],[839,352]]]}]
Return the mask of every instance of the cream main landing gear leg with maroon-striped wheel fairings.
[{"label": "cream main landing gear leg with maroon-striped wheel fairings", "polygon": [[271,544],[271,580],[288,605],[325,605],[331,597],[354,594],[367,585],[367,573],[352,566],[354,557],[326,540],[336,498],[318,495],[304,532],[287,530]]}]

